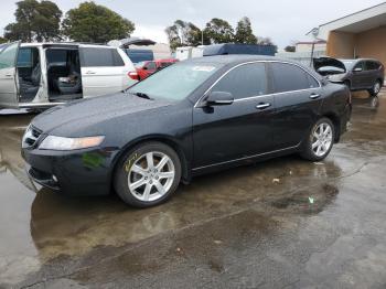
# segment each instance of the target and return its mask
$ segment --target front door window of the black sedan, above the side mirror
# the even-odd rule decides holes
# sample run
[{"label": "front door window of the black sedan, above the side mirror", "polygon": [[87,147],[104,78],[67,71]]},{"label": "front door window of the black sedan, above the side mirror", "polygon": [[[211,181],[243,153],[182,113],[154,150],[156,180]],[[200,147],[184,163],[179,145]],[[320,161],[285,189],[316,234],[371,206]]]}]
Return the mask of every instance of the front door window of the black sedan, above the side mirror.
[{"label": "front door window of the black sedan, above the side mirror", "polygon": [[267,94],[267,74],[264,63],[238,66],[226,74],[212,92],[230,93],[235,99]]}]

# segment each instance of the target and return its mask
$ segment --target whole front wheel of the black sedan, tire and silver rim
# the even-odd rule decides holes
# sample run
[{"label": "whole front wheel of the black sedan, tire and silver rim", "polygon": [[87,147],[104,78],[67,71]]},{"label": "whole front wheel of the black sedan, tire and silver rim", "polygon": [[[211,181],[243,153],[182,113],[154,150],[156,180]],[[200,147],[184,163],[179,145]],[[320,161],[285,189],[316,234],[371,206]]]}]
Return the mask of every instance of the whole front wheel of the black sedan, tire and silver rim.
[{"label": "whole front wheel of the black sedan, tire and silver rim", "polygon": [[152,141],[135,147],[119,160],[114,188],[125,203],[150,207],[170,199],[180,180],[181,161],[176,152],[162,142]]}]

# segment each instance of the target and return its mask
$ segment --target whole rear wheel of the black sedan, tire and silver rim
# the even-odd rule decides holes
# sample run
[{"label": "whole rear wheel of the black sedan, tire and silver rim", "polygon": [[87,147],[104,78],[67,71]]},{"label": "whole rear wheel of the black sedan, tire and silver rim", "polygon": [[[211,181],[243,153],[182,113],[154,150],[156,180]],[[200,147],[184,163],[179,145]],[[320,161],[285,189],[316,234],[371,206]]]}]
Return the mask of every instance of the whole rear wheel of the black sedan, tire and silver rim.
[{"label": "whole rear wheel of the black sedan, tire and silver rim", "polygon": [[[323,133],[321,133],[321,129],[324,131]],[[323,117],[310,129],[309,135],[303,142],[300,156],[309,161],[321,161],[329,156],[334,139],[335,127],[329,118]]]}]

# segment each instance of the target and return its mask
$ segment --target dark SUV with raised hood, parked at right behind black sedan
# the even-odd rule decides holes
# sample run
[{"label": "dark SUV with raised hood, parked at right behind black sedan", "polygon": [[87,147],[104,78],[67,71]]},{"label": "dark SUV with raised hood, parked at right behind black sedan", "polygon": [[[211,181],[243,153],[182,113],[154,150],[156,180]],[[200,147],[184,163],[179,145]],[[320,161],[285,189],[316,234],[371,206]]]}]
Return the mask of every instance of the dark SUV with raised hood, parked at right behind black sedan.
[{"label": "dark SUV with raised hood, parked at right behind black sedan", "polygon": [[315,71],[330,82],[343,83],[352,92],[367,90],[371,96],[376,96],[384,85],[385,66],[377,60],[319,57],[313,64]]}]

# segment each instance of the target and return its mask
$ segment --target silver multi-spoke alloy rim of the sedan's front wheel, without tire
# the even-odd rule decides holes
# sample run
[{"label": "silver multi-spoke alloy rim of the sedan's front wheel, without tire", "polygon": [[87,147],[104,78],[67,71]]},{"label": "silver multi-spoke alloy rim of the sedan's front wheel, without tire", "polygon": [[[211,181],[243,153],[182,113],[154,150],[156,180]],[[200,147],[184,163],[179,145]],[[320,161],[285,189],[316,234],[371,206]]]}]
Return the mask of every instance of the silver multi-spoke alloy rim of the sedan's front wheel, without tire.
[{"label": "silver multi-spoke alloy rim of the sedan's front wheel, without tire", "polygon": [[174,176],[172,159],[163,152],[150,151],[140,156],[131,165],[128,185],[136,199],[153,202],[168,193]]}]

